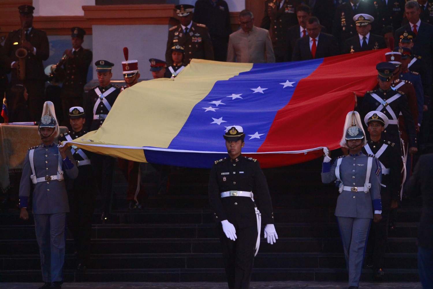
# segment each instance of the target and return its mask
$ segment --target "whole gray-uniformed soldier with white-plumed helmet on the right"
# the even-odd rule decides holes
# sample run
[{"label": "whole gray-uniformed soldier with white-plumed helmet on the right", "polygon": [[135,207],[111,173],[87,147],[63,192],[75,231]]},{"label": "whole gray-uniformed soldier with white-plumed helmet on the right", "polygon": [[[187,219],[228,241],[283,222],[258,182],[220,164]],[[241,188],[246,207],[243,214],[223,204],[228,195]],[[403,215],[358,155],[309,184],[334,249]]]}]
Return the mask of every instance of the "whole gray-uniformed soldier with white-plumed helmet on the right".
[{"label": "whole gray-uniformed soldier with white-plumed helmet on the right", "polygon": [[335,215],[343,241],[349,289],[358,289],[359,286],[364,249],[372,218],[376,223],[382,218],[381,169],[375,156],[362,153],[362,146],[366,142],[365,134],[360,127],[362,123],[359,114],[349,112],[346,117],[345,133],[340,143],[341,146],[349,148],[349,155],[340,156],[331,165],[327,152],[322,169],[323,183],[337,180],[339,185],[340,195]]}]

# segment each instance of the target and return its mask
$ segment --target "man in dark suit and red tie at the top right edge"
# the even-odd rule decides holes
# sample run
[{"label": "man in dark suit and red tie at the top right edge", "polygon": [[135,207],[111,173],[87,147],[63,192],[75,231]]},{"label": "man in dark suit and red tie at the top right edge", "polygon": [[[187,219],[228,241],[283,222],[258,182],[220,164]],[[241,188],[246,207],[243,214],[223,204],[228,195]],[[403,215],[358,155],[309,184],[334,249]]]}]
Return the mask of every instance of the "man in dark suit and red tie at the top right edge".
[{"label": "man in dark suit and red tie at the top right edge", "polygon": [[397,29],[394,33],[394,39],[399,39],[404,31],[413,31],[417,38],[414,40],[414,54],[422,56],[426,60],[427,69],[432,70],[433,55],[433,26],[424,23],[420,19],[420,5],[415,0],[408,1],[404,6],[406,18],[409,23]]}]

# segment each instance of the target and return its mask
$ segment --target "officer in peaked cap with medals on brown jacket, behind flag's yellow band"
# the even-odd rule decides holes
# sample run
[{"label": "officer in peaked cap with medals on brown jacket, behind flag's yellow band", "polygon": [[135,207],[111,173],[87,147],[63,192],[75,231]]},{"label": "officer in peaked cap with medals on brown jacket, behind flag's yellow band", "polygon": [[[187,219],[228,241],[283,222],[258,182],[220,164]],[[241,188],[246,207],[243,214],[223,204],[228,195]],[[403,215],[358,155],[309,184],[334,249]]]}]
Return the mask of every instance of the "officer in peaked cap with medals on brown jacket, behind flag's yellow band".
[{"label": "officer in peaked cap with medals on brown jacket, behind flag's yellow band", "polygon": [[206,25],[192,21],[194,6],[185,4],[175,8],[181,24],[168,31],[165,61],[172,63],[171,47],[178,44],[185,49],[185,64],[189,64],[192,58],[213,60],[213,46]]}]

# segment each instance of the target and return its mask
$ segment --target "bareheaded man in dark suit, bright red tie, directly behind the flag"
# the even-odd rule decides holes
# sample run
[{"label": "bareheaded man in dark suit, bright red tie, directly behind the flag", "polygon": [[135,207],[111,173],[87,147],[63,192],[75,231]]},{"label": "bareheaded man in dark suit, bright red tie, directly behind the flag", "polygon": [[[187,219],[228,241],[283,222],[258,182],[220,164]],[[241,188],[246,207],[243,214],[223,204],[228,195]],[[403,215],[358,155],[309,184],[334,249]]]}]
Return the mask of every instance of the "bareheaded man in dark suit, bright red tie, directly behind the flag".
[{"label": "bareheaded man in dark suit, bright red tie, directly behind the flag", "polygon": [[335,37],[320,32],[319,19],[311,17],[307,21],[308,36],[296,40],[292,61],[309,60],[338,55]]}]

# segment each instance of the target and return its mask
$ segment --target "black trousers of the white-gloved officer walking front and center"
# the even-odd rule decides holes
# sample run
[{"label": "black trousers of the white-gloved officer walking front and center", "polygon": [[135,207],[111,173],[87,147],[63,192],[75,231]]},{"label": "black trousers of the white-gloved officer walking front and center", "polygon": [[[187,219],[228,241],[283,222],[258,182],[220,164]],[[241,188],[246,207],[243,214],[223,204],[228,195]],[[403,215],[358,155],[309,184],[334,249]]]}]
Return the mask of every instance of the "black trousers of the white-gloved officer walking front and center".
[{"label": "black trousers of the white-gloved officer walking front and center", "polygon": [[248,289],[254,263],[257,225],[235,228],[237,239],[232,241],[224,234],[223,226],[218,226],[227,283],[229,289]]}]

